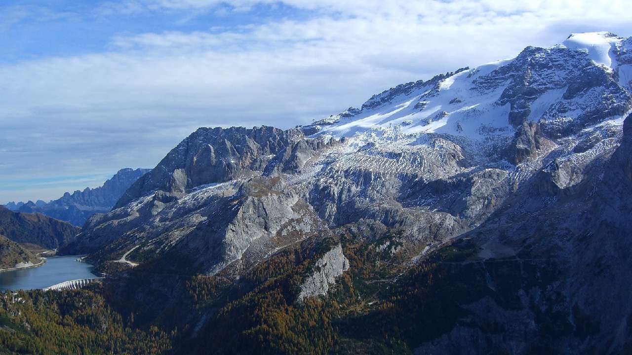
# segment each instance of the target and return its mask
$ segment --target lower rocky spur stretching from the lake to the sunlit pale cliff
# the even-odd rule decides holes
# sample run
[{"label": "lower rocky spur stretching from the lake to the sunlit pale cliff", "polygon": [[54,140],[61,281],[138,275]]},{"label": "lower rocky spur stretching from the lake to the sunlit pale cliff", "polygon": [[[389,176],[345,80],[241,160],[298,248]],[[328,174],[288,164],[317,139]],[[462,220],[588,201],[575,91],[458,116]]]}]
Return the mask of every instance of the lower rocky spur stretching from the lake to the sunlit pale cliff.
[{"label": "lower rocky spur stretching from the lake to the sunlit pale cliff", "polygon": [[181,268],[215,274],[233,262],[259,260],[319,228],[312,208],[283,180],[255,177],[211,184],[180,199],[156,191],[95,215],[61,253],[97,251],[93,258],[105,261],[141,244],[149,255],[179,260]]}]

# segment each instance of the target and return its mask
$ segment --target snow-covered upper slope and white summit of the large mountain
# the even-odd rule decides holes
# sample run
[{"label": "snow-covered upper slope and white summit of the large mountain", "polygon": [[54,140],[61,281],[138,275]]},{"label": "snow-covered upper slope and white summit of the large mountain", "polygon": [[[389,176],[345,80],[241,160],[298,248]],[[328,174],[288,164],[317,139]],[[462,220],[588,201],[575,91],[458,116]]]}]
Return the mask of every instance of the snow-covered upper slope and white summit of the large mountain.
[{"label": "snow-covered upper slope and white summit of the large mountain", "polygon": [[513,59],[398,85],[304,129],[341,137],[397,127],[481,140],[539,122],[547,135],[572,135],[628,111],[631,42],[610,32],[575,33],[554,47],[526,47]]}]

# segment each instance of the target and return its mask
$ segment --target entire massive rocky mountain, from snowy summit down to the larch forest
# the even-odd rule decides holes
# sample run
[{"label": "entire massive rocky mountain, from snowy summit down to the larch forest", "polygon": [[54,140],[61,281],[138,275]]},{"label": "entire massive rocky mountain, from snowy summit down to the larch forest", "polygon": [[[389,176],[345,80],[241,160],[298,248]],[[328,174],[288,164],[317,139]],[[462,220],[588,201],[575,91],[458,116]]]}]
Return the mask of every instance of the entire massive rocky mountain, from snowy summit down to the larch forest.
[{"label": "entire massive rocky mountain, from snowy summit down to the larch forest", "polygon": [[[132,277],[239,280],[231,287],[245,291],[229,294],[274,286],[288,304],[334,292],[336,305],[362,310],[340,315],[344,325],[401,322],[402,334],[375,339],[419,354],[624,352],[631,51],[632,39],[580,33],[399,85],[300,129],[200,128],[64,252],[106,267],[133,250]],[[340,250],[319,249],[331,239]],[[288,284],[274,284],[282,276]],[[149,293],[148,305],[159,297]],[[187,320],[199,322],[193,339],[222,338],[216,326],[233,308],[215,315],[213,302]],[[371,344],[341,339],[340,352]]]}]

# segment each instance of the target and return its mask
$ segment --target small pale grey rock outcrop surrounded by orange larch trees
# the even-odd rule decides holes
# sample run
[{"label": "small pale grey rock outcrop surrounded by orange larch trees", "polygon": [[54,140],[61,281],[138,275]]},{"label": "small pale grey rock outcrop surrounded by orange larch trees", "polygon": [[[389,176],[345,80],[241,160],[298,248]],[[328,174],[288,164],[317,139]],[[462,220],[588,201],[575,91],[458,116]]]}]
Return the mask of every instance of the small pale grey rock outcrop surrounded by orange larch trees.
[{"label": "small pale grey rock outcrop surrounded by orange larch trees", "polygon": [[325,255],[316,260],[313,272],[301,284],[298,300],[306,297],[327,294],[329,287],[336,283],[336,279],[349,269],[349,260],[343,254],[343,246],[337,244]]}]

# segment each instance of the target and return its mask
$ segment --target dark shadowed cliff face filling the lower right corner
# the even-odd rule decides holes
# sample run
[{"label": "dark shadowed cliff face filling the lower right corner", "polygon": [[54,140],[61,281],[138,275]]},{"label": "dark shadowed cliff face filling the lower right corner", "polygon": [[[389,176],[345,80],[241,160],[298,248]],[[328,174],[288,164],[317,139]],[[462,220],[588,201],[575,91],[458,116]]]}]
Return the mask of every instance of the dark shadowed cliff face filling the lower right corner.
[{"label": "dark shadowed cliff face filling the lower right corner", "polygon": [[463,283],[463,274],[477,280],[458,304],[466,311],[416,354],[627,352],[631,122],[628,116],[619,147],[583,166],[576,186],[540,189],[551,176],[535,174],[459,239],[471,255],[449,265],[446,283]]}]

